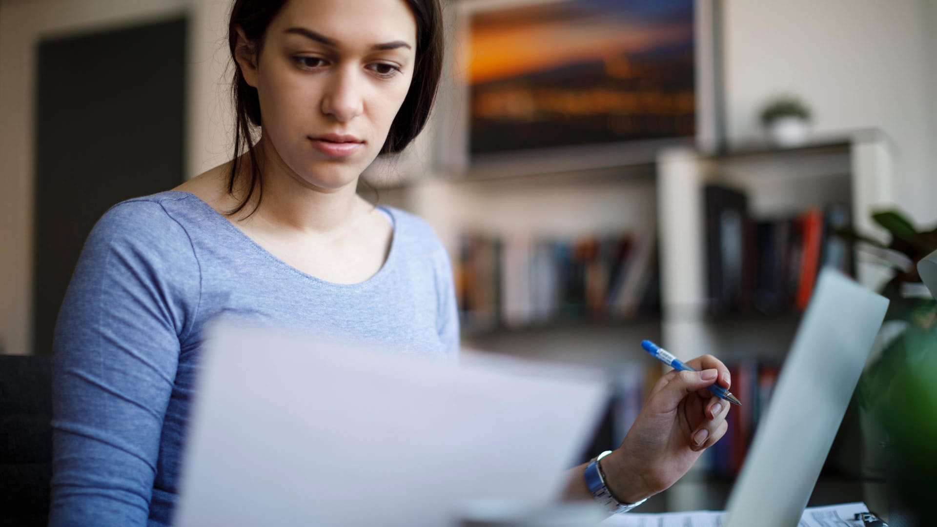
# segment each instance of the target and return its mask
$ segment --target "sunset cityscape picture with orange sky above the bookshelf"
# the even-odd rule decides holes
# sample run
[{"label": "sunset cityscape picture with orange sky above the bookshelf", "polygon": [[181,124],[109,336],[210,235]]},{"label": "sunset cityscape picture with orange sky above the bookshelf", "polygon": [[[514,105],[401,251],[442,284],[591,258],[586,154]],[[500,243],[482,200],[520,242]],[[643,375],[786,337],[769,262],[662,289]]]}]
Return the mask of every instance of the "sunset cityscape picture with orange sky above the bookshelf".
[{"label": "sunset cityscape picture with orange sky above the bookshelf", "polygon": [[468,153],[687,138],[693,0],[498,3],[468,20]]}]

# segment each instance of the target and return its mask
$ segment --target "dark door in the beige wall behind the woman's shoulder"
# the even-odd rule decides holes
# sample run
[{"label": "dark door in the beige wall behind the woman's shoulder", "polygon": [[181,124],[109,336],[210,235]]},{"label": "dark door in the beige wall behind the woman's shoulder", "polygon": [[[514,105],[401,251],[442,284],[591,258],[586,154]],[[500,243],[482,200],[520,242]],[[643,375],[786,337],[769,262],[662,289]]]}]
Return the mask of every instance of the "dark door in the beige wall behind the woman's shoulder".
[{"label": "dark door in the beige wall behind the woman's shoulder", "polygon": [[43,40],[37,52],[33,351],[49,354],[97,219],[183,181],[186,20]]}]

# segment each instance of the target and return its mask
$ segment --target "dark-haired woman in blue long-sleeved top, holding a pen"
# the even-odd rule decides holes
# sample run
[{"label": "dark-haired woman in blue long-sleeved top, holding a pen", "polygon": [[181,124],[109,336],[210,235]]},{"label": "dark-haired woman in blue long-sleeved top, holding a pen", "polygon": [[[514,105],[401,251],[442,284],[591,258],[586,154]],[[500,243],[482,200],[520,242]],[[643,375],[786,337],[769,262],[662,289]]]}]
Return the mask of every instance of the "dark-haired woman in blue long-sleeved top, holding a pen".
[{"label": "dark-haired woman in blue long-sleeved top, holding a pen", "polygon": [[[90,234],[54,342],[52,524],[171,521],[204,324],[224,312],[411,353],[454,355],[452,270],[419,218],[355,193],[423,128],[439,82],[438,0],[237,0],[238,149]],[[251,147],[249,124],[260,127]],[[245,154],[240,153],[242,143]],[[669,487],[725,431],[716,359],[668,373],[608,489]],[[589,498],[584,471],[566,496]]]}]

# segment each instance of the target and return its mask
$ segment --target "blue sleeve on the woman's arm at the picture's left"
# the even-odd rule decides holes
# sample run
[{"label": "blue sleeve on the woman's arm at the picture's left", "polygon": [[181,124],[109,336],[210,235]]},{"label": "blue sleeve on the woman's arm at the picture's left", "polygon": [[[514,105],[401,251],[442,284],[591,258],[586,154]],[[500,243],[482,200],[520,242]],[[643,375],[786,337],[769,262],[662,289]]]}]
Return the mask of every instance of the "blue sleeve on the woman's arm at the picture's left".
[{"label": "blue sleeve on the woman's arm at the picture's left", "polygon": [[50,525],[144,525],[200,271],[159,203],[118,204],[89,235],[52,349]]}]

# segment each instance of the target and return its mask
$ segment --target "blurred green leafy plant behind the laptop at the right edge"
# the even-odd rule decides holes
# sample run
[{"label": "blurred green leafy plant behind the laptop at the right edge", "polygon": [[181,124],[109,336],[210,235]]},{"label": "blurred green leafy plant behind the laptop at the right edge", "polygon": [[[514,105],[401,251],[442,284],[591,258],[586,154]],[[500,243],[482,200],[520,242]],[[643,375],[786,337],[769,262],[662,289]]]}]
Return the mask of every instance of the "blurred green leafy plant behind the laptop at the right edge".
[{"label": "blurred green leafy plant behind the laptop at the right edge", "polygon": [[[937,228],[918,230],[894,210],[876,213],[872,219],[890,234],[889,243],[851,231],[840,234],[859,242],[860,249],[893,271],[880,291],[890,300],[877,342],[880,354],[870,362],[855,393],[864,443],[863,475],[884,477],[889,460],[893,466],[907,460],[903,456],[909,444],[930,445],[931,452],[930,461],[915,454],[911,462],[937,463],[933,446],[937,445],[937,383],[919,378],[922,372],[937,369],[937,300],[924,286],[917,266],[937,250]],[[917,404],[907,404],[915,398]],[[930,423],[930,429],[908,426],[922,422]]]}]

